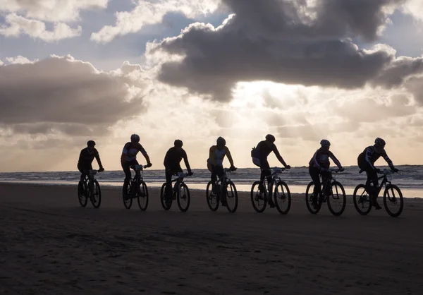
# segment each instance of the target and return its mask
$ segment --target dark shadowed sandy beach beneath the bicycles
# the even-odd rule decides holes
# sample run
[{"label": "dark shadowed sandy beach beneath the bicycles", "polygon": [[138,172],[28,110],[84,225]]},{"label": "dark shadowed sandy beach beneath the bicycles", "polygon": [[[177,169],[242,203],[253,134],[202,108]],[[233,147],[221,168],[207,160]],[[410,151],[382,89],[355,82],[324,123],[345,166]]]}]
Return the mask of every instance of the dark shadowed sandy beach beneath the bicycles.
[{"label": "dark shadowed sandy beach beneath the bicycles", "polygon": [[[101,183],[100,183],[101,184]],[[189,183],[188,183],[189,185]],[[74,186],[0,185],[0,294],[422,294],[423,202],[403,215],[311,215],[302,195],[288,215],[211,212],[192,191],[188,212],[146,212],[102,187],[102,206]]]}]

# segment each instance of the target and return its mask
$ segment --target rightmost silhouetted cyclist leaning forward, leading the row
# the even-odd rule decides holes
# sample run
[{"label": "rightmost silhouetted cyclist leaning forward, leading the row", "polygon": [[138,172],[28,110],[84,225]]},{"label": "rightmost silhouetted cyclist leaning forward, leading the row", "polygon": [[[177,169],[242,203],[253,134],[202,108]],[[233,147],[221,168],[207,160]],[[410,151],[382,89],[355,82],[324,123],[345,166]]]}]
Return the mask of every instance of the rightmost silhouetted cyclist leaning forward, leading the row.
[{"label": "rightmost silhouetted cyclist leaning forward, leading the row", "polygon": [[374,145],[370,145],[369,147],[365,148],[357,158],[358,167],[363,171],[366,171],[366,191],[369,193],[369,197],[372,199],[372,203],[376,210],[381,209],[381,206],[379,203],[377,203],[376,194],[379,186],[377,174],[380,172],[380,169],[374,167],[374,162],[376,162],[379,157],[383,157],[391,170],[393,172],[398,172],[398,169],[393,166],[391,159],[389,159],[388,155],[386,154],[385,145],[385,140],[382,138],[376,138],[374,140]]}]

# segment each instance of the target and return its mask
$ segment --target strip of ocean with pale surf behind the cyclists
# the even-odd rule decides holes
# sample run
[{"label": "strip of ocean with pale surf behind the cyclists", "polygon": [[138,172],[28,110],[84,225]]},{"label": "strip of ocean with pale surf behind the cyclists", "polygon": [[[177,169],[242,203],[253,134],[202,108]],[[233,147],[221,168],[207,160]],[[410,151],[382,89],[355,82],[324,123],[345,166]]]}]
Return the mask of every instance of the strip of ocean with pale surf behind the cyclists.
[{"label": "strip of ocean with pale surf behind the cyclists", "polygon": [[[379,167],[379,166],[378,166]],[[387,169],[388,167],[379,167]],[[400,187],[405,198],[423,197],[423,165],[400,165],[398,174],[392,175],[392,183]],[[185,170],[186,171],[186,170]],[[205,189],[210,180],[207,169],[193,169],[194,175],[185,179],[190,188]],[[345,167],[345,171],[336,176],[347,194],[352,194],[355,186],[366,181],[365,173],[359,174],[357,166]],[[238,191],[250,191],[251,185],[258,180],[258,168],[239,168],[231,174]],[[281,179],[288,183],[292,193],[305,193],[305,188],[311,181],[307,167],[293,167],[280,174]],[[46,185],[78,184],[79,171],[54,172],[10,172],[0,173],[0,182],[6,183],[42,183]],[[123,171],[104,171],[96,175],[101,186],[122,186],[125,174]],[[147,186],[161,186],[164,182],[164,170],[145,169],[143,179]]]}]

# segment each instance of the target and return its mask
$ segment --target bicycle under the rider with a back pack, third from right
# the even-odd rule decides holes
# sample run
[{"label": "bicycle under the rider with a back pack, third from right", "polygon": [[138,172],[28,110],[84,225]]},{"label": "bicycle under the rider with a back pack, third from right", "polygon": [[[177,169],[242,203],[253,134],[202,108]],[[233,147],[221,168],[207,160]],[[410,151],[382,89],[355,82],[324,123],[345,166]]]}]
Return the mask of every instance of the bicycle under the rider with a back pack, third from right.
[{"label": "bicycle under the rider with a back pack, third from right", "polygon": [[[285,171],[285,168],[278,168],[274,167],[271,169],[271,183],[269,184],[269,192],[266,188],[266,179],[263,181],[255,181],[252,183],[251,187],[251,203],[252,207],[256,212],[262,213],[264,209],[266,209],[266,205],[268,203],[268,194],[271,194],[272,188],[275,187],[274,190],[274,205],[276,209],[281,214],[287,214],[290,210],[291,205],[291,196],[288,185],[285,181],[282,181],[278,174],[281,174]],[[260,185],[263,186],[263,189],[260,190]],[[255,192],[255,188],[257,186],[257,191]],[[281,201],[281,204],[279,204]],[[257,202],[257,205],[255,204]],[[286,208],[283,209],[282,205],[286,205]],[[273,206],[271,206],[273,207]]]}]

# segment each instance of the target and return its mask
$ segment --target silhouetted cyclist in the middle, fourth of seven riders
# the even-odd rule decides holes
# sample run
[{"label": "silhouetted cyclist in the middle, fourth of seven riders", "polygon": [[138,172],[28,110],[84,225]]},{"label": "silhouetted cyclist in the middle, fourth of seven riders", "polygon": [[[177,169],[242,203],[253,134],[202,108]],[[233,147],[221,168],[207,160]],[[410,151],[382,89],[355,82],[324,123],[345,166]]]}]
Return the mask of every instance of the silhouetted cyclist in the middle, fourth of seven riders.
[{"label": "silhouetted cyclist in the middle, fourth of seven riders", "polygon": [[[219,136],[216,140],[216,145],[212,145],[209,150],[209,159],[207,159],[207,169],[212,172],[212,190],[213,193],[217,193],[217,186],[215,185],[217,181],[217,176],[221,178],[223,176],[223,159],[225,156],[228,156],[229,163],[231,164],[231,171],[235,171],[236,168],[233,166],[233,159],[231,156],[231,152],[229,151],[228,147],[226,146],[226,140]],[[222,200],[223,202],[223,200]],[[226,205],[222,203],[222,205]]]}]

